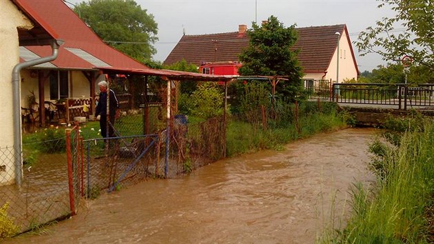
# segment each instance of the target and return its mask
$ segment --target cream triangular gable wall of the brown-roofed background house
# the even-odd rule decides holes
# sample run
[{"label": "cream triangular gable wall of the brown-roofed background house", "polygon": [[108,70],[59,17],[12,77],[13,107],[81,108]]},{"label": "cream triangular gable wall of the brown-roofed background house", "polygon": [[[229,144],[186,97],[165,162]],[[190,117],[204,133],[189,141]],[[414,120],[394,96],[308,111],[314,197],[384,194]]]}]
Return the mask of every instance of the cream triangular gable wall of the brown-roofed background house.
[{"label": "cream triangular gable wall of the brown-roofed background house", "polygon": [[[357,80],[358,74],[353,61],[353,57],[351,55],[351,48],[348,39],[347,32],[342,34],[339,41],[339,83],[344,82],[347,79],[355,79]],[[331,59],[329,68],[327,69],[327,74],[325,79],[335,82],[336,81],[336,72],[337,72],[337,50],[333,54],[333,58]]]}]

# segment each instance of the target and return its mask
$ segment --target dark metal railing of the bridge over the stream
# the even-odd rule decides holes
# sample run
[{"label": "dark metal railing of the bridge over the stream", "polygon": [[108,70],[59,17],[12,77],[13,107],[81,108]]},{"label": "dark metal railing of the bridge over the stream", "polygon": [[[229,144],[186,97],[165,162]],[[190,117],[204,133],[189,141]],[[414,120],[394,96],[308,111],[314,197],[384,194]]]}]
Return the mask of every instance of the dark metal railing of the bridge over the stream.
[{"label": "dark metal railing of the bridge over the stream", "polygon": [[434,106],[434,84],[333,83],[330,100],[337,103],[395,105],[399,110]]}]

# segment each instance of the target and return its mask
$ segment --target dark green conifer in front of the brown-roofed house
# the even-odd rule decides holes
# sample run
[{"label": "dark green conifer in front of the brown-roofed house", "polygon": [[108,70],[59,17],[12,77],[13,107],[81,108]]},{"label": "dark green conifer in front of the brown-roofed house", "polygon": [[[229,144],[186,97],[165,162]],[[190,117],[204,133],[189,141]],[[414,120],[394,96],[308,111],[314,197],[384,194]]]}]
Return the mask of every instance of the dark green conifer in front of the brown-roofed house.
[{"label": "dark green conifer in front of the brown-roofed house", "polygon": [[240,75],[287,77],[280,81],[276,91],[287,101],[294,101],[302,90],[302,68],[298,63],[298,51],[290,48],[297,41],[295,25],[285,28],[274,16],[258,26],[252,24],[247,32],[249,47],[240,54]]}]

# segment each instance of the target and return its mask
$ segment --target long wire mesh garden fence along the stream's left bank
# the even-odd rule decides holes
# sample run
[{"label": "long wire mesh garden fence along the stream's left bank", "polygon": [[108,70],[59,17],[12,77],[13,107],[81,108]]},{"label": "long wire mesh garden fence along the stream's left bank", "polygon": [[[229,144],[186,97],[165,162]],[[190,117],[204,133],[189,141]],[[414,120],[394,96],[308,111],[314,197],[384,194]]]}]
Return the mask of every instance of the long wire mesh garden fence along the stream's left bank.
[{"label": "long wire mesh garden fence along the stream's left bank", "polygon": [[[102,191],[120,190],[149,177],[176,177],[224,158],[229,121],[262,125],[266,130],[283,128],[289,123],[301,126],[299,110],[304,114],[327,110],[319,100],[303,103],[301,108],[297,104],[274,103],[267,91],[258,87],[261,101],[267,103],[256,104],[260,99],[255,98],[242,101],[239,96],[238,103],[231,105],[238,106],[238,110],[225,111],[223,85],[211,87],[216,88],[214,94],[203,93],[205,96],[197,97],[192,92],[184,100],[179,97],[179,89],[174,88],[169,119],[165,85],[149,85],[149,90],[136,89],[131,95],[118,94],[123,102],[120,116],[110,125],[114,130],[110,138],[102,138],[99,121],[89,115],[84,123],[76,122],[70,128],[65,125],[66,133],[65,127],[56,127],[25,136],[23,167],[18,169],[23,172],[21,185],[13,181],[17,174],[14,156],[21,152],[0,148],[0,182],[3,183],[0,218],[10,221],[8,225],[15,234],[32,230],[75,214],[83,198],[94,199]],[[327,91],[329,88],[324,88],[324,94]],[[215,96],[217,102],[205,101],[210,96]],[[198,103],[189,103],[190,99]],[[179,100],[183,101],[180,105]],[[214,107],[203,110],[205,102]],[[91,114],[94,106],[85,105]],[[178,110],[178,106],[196,106],[196,110],[185,112]],[[199,116],[204,111],[211,116]]]}]

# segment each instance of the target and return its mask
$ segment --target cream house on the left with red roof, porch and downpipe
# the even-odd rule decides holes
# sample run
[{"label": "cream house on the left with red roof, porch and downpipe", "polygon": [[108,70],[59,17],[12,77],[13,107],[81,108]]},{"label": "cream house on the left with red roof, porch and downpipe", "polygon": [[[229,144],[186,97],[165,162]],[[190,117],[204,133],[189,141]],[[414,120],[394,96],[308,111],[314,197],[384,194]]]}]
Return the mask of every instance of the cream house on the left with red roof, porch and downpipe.
[{"label": "cream house on the left with red roof, porch and downpipe", "polygon": [[92,110],[96,84],[105,74],[158,76],[168,87],[172,81],[231,79],[148,68],[106,45],[62,0],[2,0],[0,9],[0,185],[21,183],[22,158],[16,156],[22,152],[20,110],[31,110],[29,95],[44,125],[46,101],[81,100],[73,107]]}]

